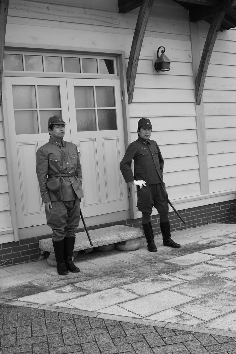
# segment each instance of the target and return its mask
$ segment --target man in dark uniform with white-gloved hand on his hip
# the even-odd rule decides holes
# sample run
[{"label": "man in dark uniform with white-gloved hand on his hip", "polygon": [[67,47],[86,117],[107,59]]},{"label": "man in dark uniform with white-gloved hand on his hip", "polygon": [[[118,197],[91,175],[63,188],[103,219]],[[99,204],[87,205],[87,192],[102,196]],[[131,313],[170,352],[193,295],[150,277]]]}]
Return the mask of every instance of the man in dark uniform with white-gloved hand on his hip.
[{"label": "man in dark uniform with white-gloved hand on his hip", "polygon": [[[120,163],[120,170],[125,182],[137,185],[138,210],[142,212],[143,230],[150,252],[157,252],[151,225],[151,213],[154,206],[160,215],[160,227],[163,245],[179,248],[171,238],[168,217],[168,195],[163,182],[163,166],[159,146],[150,140],[152,125],[149,119],[138,122],[138,139],[131,143]],[[134,160],[134,174],[131,162]]]}]

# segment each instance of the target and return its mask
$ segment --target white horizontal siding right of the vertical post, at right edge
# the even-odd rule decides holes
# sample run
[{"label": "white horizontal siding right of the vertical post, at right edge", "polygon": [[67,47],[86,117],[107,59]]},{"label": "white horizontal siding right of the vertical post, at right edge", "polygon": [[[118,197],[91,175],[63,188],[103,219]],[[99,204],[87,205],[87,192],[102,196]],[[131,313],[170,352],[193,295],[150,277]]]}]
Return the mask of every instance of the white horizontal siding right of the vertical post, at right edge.
[{"label": "white horizontal siding right of the vertical post, at right edge", "polygon": [[[208,26],[200,26],[203,49]],[[203,97],[209,193],[236,186],[236,31],[220,32],[207,72]]]}]

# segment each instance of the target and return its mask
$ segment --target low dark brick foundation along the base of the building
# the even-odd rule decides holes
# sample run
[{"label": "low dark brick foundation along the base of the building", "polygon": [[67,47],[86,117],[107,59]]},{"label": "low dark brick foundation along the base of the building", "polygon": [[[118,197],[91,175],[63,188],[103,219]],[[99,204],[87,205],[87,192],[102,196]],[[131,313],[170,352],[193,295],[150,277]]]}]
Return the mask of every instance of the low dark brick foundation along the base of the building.
[{"label": "low dark brick foundation along the base of the building", "polygon": [[[194,226],[206,225],[208,223],[223,223],[230,221],[234,217],[234,213],[230,210],[230,206],[236,204],[236,199],[231,201],[220,202],[216,204],[198,206],[191,209],[178,211],[184,221],[183,224],[174,212],[169,213],[171,231],[186,229]],[[159,234],[160,224],[159,215],[151,217],[154,235]],[[98,229],[113,225],[127,225],[131,227],[142,227],[142,218],[136,220],[128,219],[107,224],[94,225],[88,227],[88,230]],[[84,228],[78,229],[78,232],[85,231]],[[0,245],[0,265],[21,263],[27,261],[36,261],[40,258],[39,240],[50,238],[50,235],[34,237],[30,239],[20,240],[18,242],[8,242]]]}]

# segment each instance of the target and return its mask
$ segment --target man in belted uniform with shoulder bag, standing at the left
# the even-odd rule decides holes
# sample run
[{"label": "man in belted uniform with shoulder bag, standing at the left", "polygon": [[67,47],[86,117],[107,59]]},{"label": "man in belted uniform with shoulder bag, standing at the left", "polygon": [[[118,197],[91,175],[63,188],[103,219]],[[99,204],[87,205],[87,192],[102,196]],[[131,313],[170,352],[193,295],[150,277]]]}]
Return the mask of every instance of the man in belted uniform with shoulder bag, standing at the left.
[{"label": "man in belted uniform with shoulder bag, standing at the left", "polygon": [[82,174],[75,144],[65,142],[65,122],[54,115],[48,120],[49,142],[36,153],[36,173],[47,224],[52,229],[52,243],[60,275],[80,271],[72,261],[75,230],[80,220]]}]

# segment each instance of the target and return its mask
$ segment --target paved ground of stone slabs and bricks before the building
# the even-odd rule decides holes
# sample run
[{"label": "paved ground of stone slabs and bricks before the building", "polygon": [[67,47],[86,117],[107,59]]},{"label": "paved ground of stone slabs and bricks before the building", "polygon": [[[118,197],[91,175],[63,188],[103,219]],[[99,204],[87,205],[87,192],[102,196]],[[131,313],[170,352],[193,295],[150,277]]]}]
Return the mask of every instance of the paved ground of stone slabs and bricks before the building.
[{"label": "paved ground of stone slabs and bricks before the building", "polygon": [[[12,328],[24,327],[28,333],[31,351],[25,347],[26,353],[36,353],[35,316],[43,318],[36,335],[37,343],[47,347],[41,353],[236,353],[236,224],[207,224],[172,237],[180,249],[164,247],[157,235],[156,253],[148,252],[141,240],[136,251],[79,255],[75,263],[80,273],[68,276],[57,275],[46,260],[0,268],[2,331],[10,328],[4,328],[5,316],[21,322]],[[22,324],[22,313],[30,324]],[[65,330],[73,336],[64,337],[63,326],[54,324],[61,339],[53,339],[50,347],[47,329],[54,318],[67,321],[67,316],[63,326],[71,326]],[[81,318],[86,327],[77,324]],[[100,327],[102,332],[94,330]],[[5,338],[1,354],[20,353],[23,341],[15,331],[13,345],[12,332],[0,330]],[[53,335],[57,338],[58,332]],[[74,341],[80,346],[69,348]]]}]

